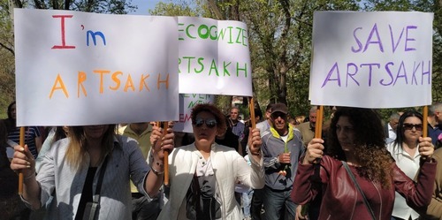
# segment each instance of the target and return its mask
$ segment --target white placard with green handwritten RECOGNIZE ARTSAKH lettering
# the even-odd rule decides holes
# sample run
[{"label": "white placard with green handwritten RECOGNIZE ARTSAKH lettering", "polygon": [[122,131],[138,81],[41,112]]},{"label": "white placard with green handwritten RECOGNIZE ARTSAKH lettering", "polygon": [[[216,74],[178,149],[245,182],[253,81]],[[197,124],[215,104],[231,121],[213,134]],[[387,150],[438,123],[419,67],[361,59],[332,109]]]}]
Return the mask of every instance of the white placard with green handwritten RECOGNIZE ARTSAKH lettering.
[{"label": "white placard with green handwritten RECOGNIZE ARTSAKH lettering", "polygon": [[179,93],[252,96],[246,24],[179,17]]}]

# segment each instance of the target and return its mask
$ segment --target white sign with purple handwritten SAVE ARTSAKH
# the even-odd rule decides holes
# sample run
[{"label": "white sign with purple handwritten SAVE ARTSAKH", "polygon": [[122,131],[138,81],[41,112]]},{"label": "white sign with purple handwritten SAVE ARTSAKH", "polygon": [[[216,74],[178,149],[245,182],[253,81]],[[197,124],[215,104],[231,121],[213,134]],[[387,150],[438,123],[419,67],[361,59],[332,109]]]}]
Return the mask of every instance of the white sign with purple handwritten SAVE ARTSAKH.
[{"label": "white sign with purple handwritten SAVE ARTSAKH", "polygon": [[422,12],[316,11],[312,104],[430,104],[432,18]]}]

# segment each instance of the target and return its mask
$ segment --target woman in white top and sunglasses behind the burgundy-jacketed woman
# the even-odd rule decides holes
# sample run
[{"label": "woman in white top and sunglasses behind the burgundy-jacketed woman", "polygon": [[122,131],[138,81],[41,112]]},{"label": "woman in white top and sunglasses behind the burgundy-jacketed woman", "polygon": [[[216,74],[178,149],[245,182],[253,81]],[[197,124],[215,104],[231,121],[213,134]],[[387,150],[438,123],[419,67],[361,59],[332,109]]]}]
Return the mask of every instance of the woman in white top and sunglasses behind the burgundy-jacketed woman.
[{"label": "woman in white top and sunglasses behind the burgundy-jacketed woman", "polygon": [[[387,145],[392,158],[408,178],[415,178],[420,167],[419,137],[422,136],[423,116],[411,110],[400,116],[396,140]],[[417,219],[419,214],[407,205],[405,198],[396,192],[392,220]]]}]

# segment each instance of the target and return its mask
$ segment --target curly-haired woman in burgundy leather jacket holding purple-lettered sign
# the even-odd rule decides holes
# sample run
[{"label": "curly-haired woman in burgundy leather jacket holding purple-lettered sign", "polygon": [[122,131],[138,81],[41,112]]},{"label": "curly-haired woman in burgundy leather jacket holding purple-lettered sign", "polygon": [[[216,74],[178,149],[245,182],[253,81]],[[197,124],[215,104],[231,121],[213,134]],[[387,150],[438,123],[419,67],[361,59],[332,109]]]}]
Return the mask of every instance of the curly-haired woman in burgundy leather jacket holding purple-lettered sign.
[{"label": "curly-haired woman in burgundy leather jacket holding purple-lettered sign", "polygon": [[301,205],[323,191],[318,219],[390,220],[395,191],[418,211],[430,203],[436,173],[431,138],[419,138],[422,159],[417,183],[400,171],[385,148],[383,126],[374,110],[339,108],[327,141],[325,156],[324,140],[309,142],[292,191],[293,201]]}]

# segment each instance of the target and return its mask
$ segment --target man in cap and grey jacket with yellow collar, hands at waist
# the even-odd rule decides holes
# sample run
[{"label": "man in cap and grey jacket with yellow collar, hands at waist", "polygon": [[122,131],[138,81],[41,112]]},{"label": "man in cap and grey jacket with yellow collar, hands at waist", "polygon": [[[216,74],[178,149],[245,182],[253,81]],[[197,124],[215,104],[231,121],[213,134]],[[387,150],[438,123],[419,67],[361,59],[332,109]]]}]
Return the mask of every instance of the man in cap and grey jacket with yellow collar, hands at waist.
[{"label": "man in cap and grey jacket with yellow collar, hands at waist", "polygon": [[294,219],[296,205],[290,198],[299,157],[304,153],[301,133],[287,121],[283,103],[271,108],[271,127],[262,134],[265,169],[264,219]]}]

